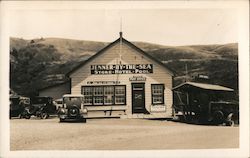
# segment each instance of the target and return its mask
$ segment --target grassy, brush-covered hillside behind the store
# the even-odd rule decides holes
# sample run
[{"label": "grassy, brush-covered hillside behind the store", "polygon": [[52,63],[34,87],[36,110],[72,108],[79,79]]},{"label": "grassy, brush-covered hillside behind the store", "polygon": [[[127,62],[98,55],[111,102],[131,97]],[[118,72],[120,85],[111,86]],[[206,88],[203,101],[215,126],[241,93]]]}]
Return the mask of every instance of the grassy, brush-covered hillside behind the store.
[{"label": "grassy, brush-covered hillside behind the store", "polygon": [[[208,82],[238,89],[238,45],[163,46],[132,42],[160,59],[176,76],[174,84],[198,74],[209,75]],[[10,38],[10,85],[23,95],[67,80],[65,74],[87,60],[108,43],[59,38],[25,40]]]}]

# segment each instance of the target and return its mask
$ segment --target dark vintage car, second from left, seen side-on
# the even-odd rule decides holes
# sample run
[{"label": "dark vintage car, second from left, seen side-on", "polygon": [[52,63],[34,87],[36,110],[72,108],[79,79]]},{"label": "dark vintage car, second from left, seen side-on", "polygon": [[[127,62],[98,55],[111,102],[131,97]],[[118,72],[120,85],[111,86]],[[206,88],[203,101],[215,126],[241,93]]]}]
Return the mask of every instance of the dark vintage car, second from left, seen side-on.
[{"label": "dark vintage car, second from left, seen side-on", "polygon": [[47,119],[49,115],[56,114],[56,106],[53,104],[51,97],[32,97],[31,105],[26,107],[23,116],[30,119],[32,115]]}]

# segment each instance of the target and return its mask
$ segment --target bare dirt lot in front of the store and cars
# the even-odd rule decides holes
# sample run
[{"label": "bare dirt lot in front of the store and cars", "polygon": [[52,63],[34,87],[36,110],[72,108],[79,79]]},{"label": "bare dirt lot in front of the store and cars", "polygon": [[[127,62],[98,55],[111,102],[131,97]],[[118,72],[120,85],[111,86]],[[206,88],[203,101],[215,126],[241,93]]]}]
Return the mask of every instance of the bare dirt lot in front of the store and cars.
[{"label": "bare dirt lot in front of the store and cars", "polygon": [[10,150],[150,150],[238,148],[239,127],[162,120],[57,118],[10,120]]}]

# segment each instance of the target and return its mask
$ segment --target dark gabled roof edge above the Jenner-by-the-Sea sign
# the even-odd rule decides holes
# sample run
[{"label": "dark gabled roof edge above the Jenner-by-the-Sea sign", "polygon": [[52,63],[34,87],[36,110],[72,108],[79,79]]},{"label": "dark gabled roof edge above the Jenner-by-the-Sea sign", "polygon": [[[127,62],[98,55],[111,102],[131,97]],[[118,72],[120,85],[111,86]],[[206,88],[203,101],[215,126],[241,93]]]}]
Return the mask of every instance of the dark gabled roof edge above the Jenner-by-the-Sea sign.
[{"label": "dark gabled roof edge above the Jenner-by-the-Sea sign", "polygon": [[92,61],[93,59],[95,59],[97,56],[99,56],[100,54],[104,53],[107,49],[111,48],[113,45],[115,45],[116,43],[119,43],[120,40],[122,40],[123,43],[126,43],[128,46],[130,46],[131,48],[137,50],[139,53],[141,53],[142,55],[152,59],[153,61],[155,61],[156,63],[158,63],[159,65],[163,66],[170,75],[174,76],[174,71],[171,70],[170,68],[168,68],[166,65],[164,65],[162,62],[160,62],[159,60],[157,60],[156,58],[152,57],[151,55],[149,55],[148,53],[144,52],[142,49],[138,48],[137,46],[135,46],[133,43],[129,42],[128,40],[126,40],[123,37],[118,38],[117,40],[115,40],[114,42],[110,43],[109,45],[107,45],[106,47],[104,47],[103,49],[101,49],[99,52],[97,52],[95,55],[91,56],[88,60],[81,62],[77,67],[75,67],[73,70],[71,70],[70,72],[68,72],[66,74],[66,76],[70,76],[72,73],[74,73],[76,70],[78,70],[79,68],[81,68],[82,66],[84,66],[85,64],[87,64],[88,62]]}]

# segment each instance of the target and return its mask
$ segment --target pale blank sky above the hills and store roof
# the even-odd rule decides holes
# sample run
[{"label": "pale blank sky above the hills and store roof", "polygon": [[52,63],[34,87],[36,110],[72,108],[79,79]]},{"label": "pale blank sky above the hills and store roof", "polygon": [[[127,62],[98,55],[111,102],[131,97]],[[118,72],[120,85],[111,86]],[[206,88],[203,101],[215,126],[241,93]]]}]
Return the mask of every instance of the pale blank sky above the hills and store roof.
[{"label": "pale blank sky above the hills and store roof", "polygon": [[129,41],[163,45],[238,42],[232,9],[26,9],[12,10],[10,35],[24,39],[59,37],[112,42],[122,32]]}]

